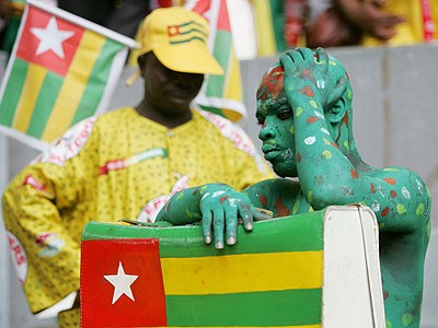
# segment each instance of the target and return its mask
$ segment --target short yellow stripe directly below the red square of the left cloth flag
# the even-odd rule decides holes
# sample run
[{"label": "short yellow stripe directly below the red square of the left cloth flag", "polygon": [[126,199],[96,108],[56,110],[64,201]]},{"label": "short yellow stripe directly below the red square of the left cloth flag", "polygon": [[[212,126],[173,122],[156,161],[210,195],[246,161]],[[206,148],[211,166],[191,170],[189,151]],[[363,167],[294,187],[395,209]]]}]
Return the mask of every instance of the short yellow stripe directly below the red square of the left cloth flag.
[{"label": "short yellow stripe directly below the red square of the left cloth flag", "polygon": [[16,105],[12,128],[22,132],[27,131],[46,73],[47,70],[41,66],[28,65],[26,80],[22,89],[22,94],[25,96],[22,96]]}]

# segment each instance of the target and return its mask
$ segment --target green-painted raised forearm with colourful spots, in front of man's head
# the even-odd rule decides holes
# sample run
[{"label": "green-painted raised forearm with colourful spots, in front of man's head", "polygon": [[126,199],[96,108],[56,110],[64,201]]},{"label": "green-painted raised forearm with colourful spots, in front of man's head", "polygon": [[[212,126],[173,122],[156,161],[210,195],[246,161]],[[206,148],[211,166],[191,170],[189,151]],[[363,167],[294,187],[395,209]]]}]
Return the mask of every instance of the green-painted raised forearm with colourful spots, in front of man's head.
[{"label": "green-painted raised forearm with colourful spots, in front of man's head", "polygon": [[[302,108],[302,109],[299,109]],[[295,110],[297,168],[303,195],[314,209],[353,202],[353,164],[328,132],[322,105],[307,98]]]}]

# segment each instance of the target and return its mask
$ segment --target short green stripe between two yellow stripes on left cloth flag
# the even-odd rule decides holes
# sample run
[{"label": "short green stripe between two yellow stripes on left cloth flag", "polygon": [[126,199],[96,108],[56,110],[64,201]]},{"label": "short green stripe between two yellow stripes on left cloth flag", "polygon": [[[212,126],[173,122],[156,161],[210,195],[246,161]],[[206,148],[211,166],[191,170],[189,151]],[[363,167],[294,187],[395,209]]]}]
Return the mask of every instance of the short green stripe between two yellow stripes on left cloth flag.
[{"label": "short green stripe between two yellow stripes on left cloth flag", "polygon": [[46,79],[43,82],[38,98],[35,103],[34,112],[28,125],[27,134],[41,138],[46,128],[47,120],[50,117],[51,109],[58,98],[59,91],[62,86],[64,78],[47,71]]}]

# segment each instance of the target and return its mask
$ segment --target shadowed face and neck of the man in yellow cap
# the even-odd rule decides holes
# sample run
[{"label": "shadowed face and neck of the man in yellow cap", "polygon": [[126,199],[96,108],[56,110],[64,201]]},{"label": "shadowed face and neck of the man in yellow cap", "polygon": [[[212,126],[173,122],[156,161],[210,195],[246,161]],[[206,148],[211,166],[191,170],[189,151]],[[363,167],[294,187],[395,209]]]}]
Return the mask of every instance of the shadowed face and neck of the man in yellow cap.
[{"label": "shadowed face and neck of the man in yellow cap", "polygon": [[204,74],[168,69],[151,51],[138,58],[145,79],[145,97],[136,110],[170,129],[192,119],[191,103],[198,94]]}]

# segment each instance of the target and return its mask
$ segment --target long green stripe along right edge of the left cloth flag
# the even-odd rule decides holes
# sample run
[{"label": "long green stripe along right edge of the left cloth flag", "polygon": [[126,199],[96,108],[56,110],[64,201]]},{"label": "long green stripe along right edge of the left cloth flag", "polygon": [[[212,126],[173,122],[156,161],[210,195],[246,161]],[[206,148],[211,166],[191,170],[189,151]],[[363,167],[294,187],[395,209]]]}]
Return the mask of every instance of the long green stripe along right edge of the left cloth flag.
[{"label": "long green stripe along right edge of the left cloth flag", "polygon": [[113,67],[114,57],[124,46],[113,39],[106,39],[101,54],[91,71],[85,91],[82,94],[78,110],[73,117],[74,125],[94,114],[102,99]]}]

